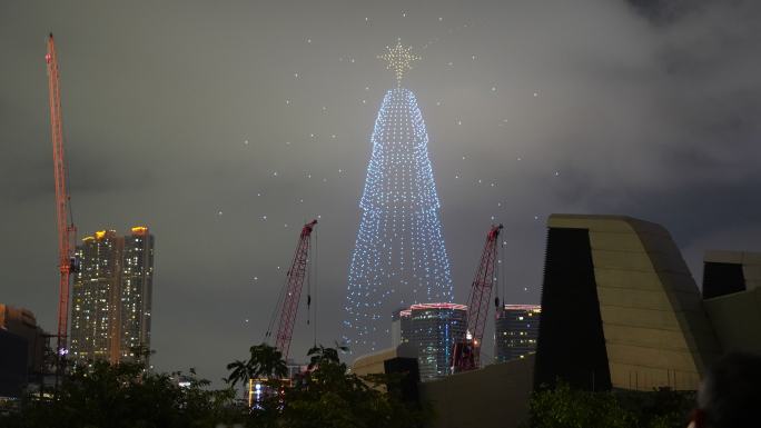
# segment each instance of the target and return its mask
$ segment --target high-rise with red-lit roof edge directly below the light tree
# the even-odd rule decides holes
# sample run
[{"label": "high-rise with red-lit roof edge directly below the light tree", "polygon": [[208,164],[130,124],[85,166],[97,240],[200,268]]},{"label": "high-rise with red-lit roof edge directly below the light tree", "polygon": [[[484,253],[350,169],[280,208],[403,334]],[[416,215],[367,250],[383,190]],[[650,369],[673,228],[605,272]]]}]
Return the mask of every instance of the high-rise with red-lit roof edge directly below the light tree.
[{"label": "high-rise with red-lit roof edge directly below the light tree", "polygon": [[401,341],[417,349],[421,380],[449,374],[452,347],[465,337],[467,307],[456,303],[419,303],[399,311]]}]

